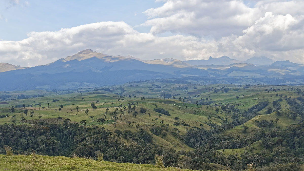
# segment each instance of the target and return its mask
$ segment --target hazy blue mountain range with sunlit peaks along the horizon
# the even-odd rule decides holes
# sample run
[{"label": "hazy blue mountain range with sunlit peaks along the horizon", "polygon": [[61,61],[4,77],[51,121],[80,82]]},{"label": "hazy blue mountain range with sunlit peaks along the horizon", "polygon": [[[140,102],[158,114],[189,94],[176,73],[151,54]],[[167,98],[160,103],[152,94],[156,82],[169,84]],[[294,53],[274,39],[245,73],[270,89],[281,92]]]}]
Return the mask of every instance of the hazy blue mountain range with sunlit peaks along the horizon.
[{"label": "hazy blue mountain range with sunlit peaks along the horizon", "polygon": [[[47,65],[24,69],[16,66],[14,69],[14,65],[6,64],[4,66],[12,69],[7,71],[9,67],[5,67],[6,71],[0,72],[0,91],[96,88],[155,79],[199,84],[304,83],[304,65],[290,61],[271,63],[270,60],[253,57],[247,60],[250,63],[246,63],[226,56],[189,61],[173,58],[141,60],[130,55],[113,56],[86,49]],[[251,64],[255,62],[261,65]]]}]

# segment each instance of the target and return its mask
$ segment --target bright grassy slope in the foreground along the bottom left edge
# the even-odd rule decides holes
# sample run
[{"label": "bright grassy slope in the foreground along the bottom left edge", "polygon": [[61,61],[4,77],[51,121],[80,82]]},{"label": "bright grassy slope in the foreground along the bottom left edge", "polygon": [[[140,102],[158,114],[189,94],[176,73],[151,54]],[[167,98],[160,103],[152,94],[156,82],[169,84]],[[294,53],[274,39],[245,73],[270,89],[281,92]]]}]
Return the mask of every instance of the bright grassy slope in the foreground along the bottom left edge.
[{"label": "bright grassy slope in the foreground along the bottom left edge", "polygon": [[[0,155],[1,170],[158,170],[158,171],[173,171],[173,170],[189,170],[178,169],[174,167],[157,168],[150,164],[131,164],[131,163],[115,163],[115,162],[100,162],[92,159],[84,158],[68,158],[63,156],[49,157],[36,155]],[[189,170],[190,171],[190,170]]]}]

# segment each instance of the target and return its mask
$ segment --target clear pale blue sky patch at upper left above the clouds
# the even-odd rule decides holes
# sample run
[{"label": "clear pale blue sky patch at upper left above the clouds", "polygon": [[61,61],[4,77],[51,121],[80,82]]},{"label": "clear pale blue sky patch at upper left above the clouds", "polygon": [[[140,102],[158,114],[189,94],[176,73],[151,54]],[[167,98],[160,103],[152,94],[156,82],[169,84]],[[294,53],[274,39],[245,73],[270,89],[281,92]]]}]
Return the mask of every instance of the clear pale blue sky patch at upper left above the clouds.
[{"label": "clear pale blue sky patch at upper left above the clouds", "polygon": [[[131,26],[140,25],[147,16],[143,12],[164,2],[154,0],[19,0],[0,1],[0,40],[22,40],[31,31],[57,31],[102,21],[124,21]],[[134,29],[149,32],[150,27]]]}]

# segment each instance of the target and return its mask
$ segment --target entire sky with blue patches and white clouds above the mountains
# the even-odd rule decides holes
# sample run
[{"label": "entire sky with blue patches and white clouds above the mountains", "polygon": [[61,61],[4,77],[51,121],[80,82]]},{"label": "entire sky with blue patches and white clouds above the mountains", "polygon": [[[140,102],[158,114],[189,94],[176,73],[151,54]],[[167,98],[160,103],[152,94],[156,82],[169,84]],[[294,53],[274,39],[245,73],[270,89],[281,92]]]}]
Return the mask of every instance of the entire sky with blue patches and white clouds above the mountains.
[{"label": "entire sky with blue patches and white clouds above the mountains", "polygon": [[0,0],[0,62],[45,65],[89,48],[304,64],[303,9],[303,0]]}]

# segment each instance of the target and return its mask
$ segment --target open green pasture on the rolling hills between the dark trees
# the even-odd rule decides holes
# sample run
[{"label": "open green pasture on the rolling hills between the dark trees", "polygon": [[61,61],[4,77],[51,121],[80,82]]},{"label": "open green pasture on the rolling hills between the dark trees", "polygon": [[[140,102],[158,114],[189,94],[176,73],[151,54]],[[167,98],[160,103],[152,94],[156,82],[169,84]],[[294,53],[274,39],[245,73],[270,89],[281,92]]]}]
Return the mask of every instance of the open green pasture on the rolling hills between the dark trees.
[{"label": "open green pasture on the rolling hills between the dark trees", "polygon": [[[221,87],[228,87],[229,91],[218,91],[215,92],[214,89],[220,89]],[[77,91],[43,91],[43,90],[32,90],[25,92],[0,92],[1,95],[9,95],[10,97],[6,101],[0,101],[0,115],[8,115],[8,117],[0,118],[0,124],[12,124],[14,120],[12,116],[16,115],[16,124],[22,124],[20,118],[25,117],[25,123],[23,124],[41,124],[44,123],[63,123],[67,118],[71,119],[72,122],[78,122],[80,124],[81,120],[86,120],[86,125],[102,125],[106,129],[114,132],[118,130],[131,130],[135,132],[137,130],[136,124],[139,124],[139,128],[144,129],[145,131],[150,132],[150,128],[153,126],[162,126],[164,124],[169,124],[169,130],[172,130],[175,126],[173,125],[175,117],[179,118],[179,121],[182,120],[189,124],[191,127],[201,127],[209,130],[211,127],[206,124],[209,120],[215,124],[222,124],[223,120],[217,118],[227,117],[228,121],[231,120],[231,115],[221,112],[222,105],[236,105],[241,111],[248,110],[251,106],[258,104],[259,102],[269,101],[269,105],[266,107],[273,107],[272,102],[284,96],[295,98],[299,95],[295,93],[296,88],[303,89],[304,86],[275,86],[275,85],[254,85],[249,88],[244,89],[244,87],[237,87],[236,85],[196,85],[196,84],[167,84],[167,83],[127,83],[125,85],[107,87],[111,91],[105,90],[95,90],[92,89],[79,89]],[[265,91],[270,90],[271,88],[275,91]],[[292,88],[292,89],[291,89]],[[280,90],[279,90],[280,89]],[[164,94],[170,93],[172,96],[175,96],[176,99],[171,97],[170,99],[165,98]],[[28,99],[19,99],[19,100],[10,100],[17,98],[18,95],[33,96],[33,95],[43,95],[43,97],[34,97]],[[129,97],[130,95],[130,97]],[[162,98],[161,98],[161,95]],[[282,97],[280,97],[282,95]],[[136,97],[135,97],[136,96]],[[236,96],[239,98],[237,99]],[[146,99],[141,99],[140,97],[145,97]],[[185,103],[178,98],[186,97]],[[203,101],[210,101],[212,103],[208,106],[206,105],[196,105],[195,102],[202,99]],[[53,99],[58,99],[57,102],[52,102]],[[96,101],[99,101],[96,103]],[[119,100],[119,101],[118,101]],[[117,108],[120,110],[119,105],[127,106],[127,103],[134,103],[136,106],[136,111],[139,111],[140,108],[146,109],[146,113],[140,115],[140,113],[134,117],[131,114],[122,115],[116,121],[116,127],[114,126],[114,119],[108,114],[105,114],[107,107],[109,111],[117,111]],[[39,107],[38,103],[41,103]],[[47,107],[49,103],[49,108]],[[91,103],[95,103],[97,109],[93,110]],[[22,105],[25,104],[26,107],[22,108]],[[33,104],[33,107],[30,105]],[[37,105],[35,105],[37,104]],[[282,110],[287,110],[289,108],[285,100],[280,102]],[[59,111],[60,105],[63,105],[61,111]],[[11,113],[9,108],[12,106],[15,107],[15,112]],[[79,107],[77,112],[76,106]],[[132,105],[133,106],[133,105]],[[160,113],[155,112],[154,108],[164,108],[168,110],[171,116],[165,116]],[[44,107],[44,109],[43,109]],[[260,115],[248,120],[244,126],[248,126],[247,134],[252,134],[255,131],[260,130],[260,127],[257,127],[255,120],[279,120],[274,123],[275,126],[279,126],[282,129],[285,129],[291,124],[299,122],[299,117],[295,120],[282,115],[277,116],[275,112],[266,115],[266,108],[259,111]],[[34,111],[33,117],[27,116],[23,113],[25,109],[29,112]],[[55,111],[55,109],[57,111]],[[85,113],[85,110],[88,109],[88,115]],[[218,113],[216,109],[219,109]],[[123,110],[123,108],[122,108]],[[117,111],[118,116],[121,114],[120,111]],[[148,115],[150,113],[150,117]],[[93,117],[90,118],[90,116]],[[208,119],[208,117],[210,118]],[[61,117],[62,119],[57,119]],[[105,117],[105,124],[101,122],[96,122],[98,118]],[[163,121],[163,124],[161,123]],[[131,122],[131,124],[128,124]],[[178,126],[180,134],[185,134],[187,126]],[[226,135],[230,136],[244,136],[243,125],[236,126],[235,128],[225,132]],[[171,134],[167,135],[154,135],[153,140],[155,143],[162,145],[164,147],[176,148],[177,150],[192,150],[188,145],[179,141],[176,137]],[[123,141],[128,144],[128,142],[123,139]],[[254,145],[254,144],[253,144]],[[257,149],[261,149],[258,147]],[[230,150],[226,150],[229,153]],[[231,154],[235,152],[240,153],[240,149],[231,150]],[[258,152],[259,150],[257,150]],[[227,154],[228,154],[227,153]],[[229,154],[230,154],[229,153]]]}]

